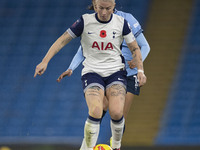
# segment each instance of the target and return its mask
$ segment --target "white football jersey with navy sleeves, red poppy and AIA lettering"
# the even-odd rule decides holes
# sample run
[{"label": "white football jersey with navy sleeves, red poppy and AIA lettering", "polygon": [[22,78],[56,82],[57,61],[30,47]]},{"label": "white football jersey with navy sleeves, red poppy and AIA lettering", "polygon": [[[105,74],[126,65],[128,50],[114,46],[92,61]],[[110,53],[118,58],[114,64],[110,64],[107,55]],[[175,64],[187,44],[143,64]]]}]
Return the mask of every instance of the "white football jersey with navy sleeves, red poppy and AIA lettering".
[{"label": "white football jersey with navy sleeves, red poppy and AIA lettering", "polygon": [[76,37],[79,36],[77,28],[85,57],[82,75],[97,73],[107,77],[125,68],[121,45],[123,39],[130,43],[135,38],[124,18],[113,14],[108,22],[101,22],[97,14],[85,14],[67,31],[72,37]]}]

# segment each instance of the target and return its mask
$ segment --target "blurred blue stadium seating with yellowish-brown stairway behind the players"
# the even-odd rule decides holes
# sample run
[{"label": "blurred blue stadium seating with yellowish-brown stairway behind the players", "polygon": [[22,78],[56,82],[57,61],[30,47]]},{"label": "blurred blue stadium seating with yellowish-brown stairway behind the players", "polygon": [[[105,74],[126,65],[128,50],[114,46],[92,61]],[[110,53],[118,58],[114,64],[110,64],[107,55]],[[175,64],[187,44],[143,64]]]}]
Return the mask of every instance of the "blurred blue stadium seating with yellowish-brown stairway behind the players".
[{"label": "blurred blue stadium seating with yellowish-brown stairway behind the players", "polygon": [[[200,0],[116,0],[144,29],[151,51],[147,84],[135,97],[123,149],[200,147]],[[41,77],[36,65],[91,0],[0,0],[0,150],[79,149],[88,110],[80,65],[56,79],[80,39],[63,48]],[[109,144],[110,117],[98,143]]]}]

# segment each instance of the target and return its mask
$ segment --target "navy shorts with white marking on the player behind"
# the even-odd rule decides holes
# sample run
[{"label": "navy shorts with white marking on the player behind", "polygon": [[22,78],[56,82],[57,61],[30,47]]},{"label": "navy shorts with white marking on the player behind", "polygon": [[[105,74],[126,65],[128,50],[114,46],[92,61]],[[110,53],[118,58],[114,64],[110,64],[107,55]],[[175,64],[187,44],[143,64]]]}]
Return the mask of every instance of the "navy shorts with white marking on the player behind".
[{"label": "navy shorts with white marking on the player behind", "polygon": [[130,92],[134,95],[140,94],[140,86],[137,79],[137,74],[127,77],[127,92]]}]

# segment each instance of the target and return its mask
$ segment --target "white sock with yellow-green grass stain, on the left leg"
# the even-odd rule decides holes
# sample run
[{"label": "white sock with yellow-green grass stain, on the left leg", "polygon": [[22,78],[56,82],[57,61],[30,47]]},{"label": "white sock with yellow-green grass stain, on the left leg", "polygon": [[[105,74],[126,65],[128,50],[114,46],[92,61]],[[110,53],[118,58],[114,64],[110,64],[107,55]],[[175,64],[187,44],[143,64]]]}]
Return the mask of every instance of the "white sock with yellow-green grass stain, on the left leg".
[{"label": "white sock with yellow-green grass stain, on the left leg", "polygon": [[93,121],[89,118],[85,122],[84,139],[80,150],[93,150],[99,136],[100,121]]}]

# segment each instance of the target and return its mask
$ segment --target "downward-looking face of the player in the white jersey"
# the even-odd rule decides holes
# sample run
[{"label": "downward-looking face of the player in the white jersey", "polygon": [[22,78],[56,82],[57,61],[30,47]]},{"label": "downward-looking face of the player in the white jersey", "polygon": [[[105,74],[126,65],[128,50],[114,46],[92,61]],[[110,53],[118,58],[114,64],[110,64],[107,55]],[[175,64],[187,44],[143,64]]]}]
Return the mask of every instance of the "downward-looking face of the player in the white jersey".
[{"label": "downward-looking face of the player in the white jersey", "polygon": [[109,21],[114,7],[115,3],[112,1],[98,0],[96,2],[96,12],[98,13],[98,18],[101,21]]}]

